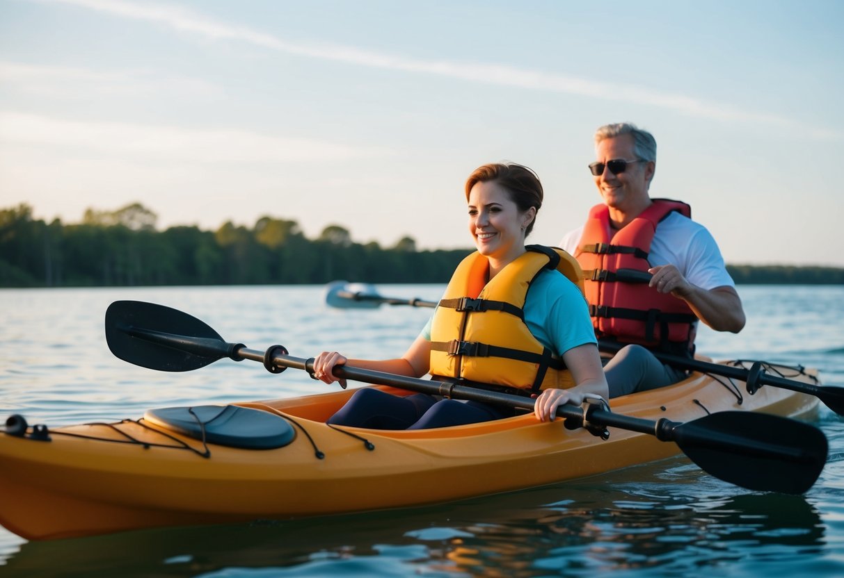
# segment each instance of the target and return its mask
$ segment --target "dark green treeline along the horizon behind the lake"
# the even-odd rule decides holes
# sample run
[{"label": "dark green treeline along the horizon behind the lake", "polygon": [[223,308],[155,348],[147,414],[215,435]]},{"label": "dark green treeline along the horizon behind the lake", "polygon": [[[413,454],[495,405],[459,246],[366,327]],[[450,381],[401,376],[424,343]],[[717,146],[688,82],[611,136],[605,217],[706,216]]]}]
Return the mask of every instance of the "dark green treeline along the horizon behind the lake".
[{"label": "dark green treeline along the horizon behind the lake", "polygon": [[[155,228],[153,211],[134,203],[85,211],[83,221],[47,223],[21,204],[0,209],[0,286],[191,286],[445,283],[473,249],[418,251],[413,238],[392,247],[355,243],[339,225],[306,238],[295,221],[261,217],[252,228],[226,222]],[[739,284],[844,284],[844,269],[728,265]]]}]

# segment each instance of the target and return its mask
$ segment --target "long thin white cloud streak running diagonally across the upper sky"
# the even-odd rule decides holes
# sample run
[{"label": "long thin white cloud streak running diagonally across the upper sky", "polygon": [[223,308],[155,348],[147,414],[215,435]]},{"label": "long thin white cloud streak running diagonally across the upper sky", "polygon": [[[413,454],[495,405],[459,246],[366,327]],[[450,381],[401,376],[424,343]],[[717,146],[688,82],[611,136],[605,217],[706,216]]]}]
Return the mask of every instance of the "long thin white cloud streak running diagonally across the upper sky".
[{"label": "long thin white cloud streak running diagonally across the upper sky", "polygon": [[477,62],[425,61],[405,56],[365,51],[354,46],[294,44],[245,26],[236,26],[208,19],[203,14],[180,6],[159,3],[133,3],[126,0],[41,0],[67,3],[111,13],[128,19],[146,20],[164,24],[182,32],[203,35],[213,40],[240,40],[274,51],[324,60],[347,62],[363,67],[385,68],[407,72],[423,72],[472,82],[501,86],[544,90],[563,94],[578,94],[591,98],[647,104],[687,115],[716,120],[744,120],[760,122],[783,128],[808,131],[819,138],[841,138],[838,131],[804,126],[796,120],[778,115],[765,115],[740,110],[724,104],[706,103],[682,94],[672,94],[630,85],[602,83],[586,78],[526,70],[517,67],[490,65]]}]

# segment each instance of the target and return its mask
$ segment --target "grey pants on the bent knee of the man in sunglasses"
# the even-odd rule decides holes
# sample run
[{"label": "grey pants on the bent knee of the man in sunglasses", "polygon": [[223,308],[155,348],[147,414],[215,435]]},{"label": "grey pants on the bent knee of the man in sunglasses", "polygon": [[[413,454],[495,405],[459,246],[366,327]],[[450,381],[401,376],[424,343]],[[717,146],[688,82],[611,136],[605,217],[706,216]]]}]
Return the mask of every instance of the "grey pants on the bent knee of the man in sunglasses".
[{"label": "grey pants on the bent knee of the man in sunglasses", "polygon": [[686,377],[686,372],[664,365],[641,345],[625,345],[603,367],[609,397],[664,388]]}]

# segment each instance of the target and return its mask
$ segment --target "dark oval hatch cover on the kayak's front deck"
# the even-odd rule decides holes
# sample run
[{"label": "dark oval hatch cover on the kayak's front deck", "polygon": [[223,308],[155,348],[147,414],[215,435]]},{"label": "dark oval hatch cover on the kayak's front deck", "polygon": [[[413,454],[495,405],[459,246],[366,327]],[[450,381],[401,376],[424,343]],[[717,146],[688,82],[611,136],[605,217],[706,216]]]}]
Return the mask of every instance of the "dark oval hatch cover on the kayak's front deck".
[{"label": "dark oval hatch cover on the kayak's front deck", "polygon": [[284,447],[295,437],[293,426],[280,415],[237,405],[148,409],[143,419],[197,440],[204,429],[205,442],[250,450]]}]

